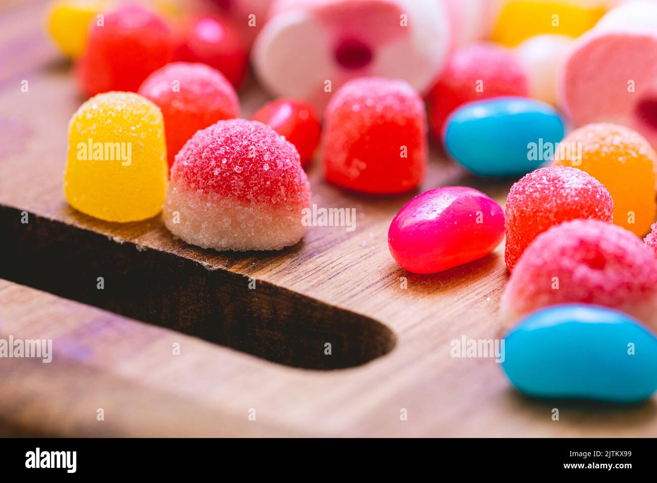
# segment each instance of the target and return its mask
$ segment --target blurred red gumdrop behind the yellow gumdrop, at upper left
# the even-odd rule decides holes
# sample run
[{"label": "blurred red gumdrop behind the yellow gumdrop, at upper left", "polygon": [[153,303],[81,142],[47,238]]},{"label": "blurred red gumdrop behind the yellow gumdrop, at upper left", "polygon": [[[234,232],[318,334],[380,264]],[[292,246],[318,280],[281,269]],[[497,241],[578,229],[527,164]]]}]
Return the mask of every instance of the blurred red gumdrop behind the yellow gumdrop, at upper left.
[{"label": "blurred red gumdrop behind the yellow gumdrop, at upper left", "polygon": [[153,12],[125,5],[91,24],[78,64],[78,83],[92,96],[107,91],[136,92],[148,74],[171,60],[167,24]]}]

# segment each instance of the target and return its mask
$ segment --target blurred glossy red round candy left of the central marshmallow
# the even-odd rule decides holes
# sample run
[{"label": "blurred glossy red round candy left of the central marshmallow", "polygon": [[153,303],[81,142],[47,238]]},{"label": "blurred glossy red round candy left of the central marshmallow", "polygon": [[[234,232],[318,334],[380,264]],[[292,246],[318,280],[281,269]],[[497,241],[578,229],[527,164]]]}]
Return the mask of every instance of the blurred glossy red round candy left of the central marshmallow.
[{"label": "blurred glossy red round candy left of the central marshmallow", "polygon": [[248,49],[230,20],[200,16],[183,27],[173,60],[208,64],[238,89],[246,76]]}]

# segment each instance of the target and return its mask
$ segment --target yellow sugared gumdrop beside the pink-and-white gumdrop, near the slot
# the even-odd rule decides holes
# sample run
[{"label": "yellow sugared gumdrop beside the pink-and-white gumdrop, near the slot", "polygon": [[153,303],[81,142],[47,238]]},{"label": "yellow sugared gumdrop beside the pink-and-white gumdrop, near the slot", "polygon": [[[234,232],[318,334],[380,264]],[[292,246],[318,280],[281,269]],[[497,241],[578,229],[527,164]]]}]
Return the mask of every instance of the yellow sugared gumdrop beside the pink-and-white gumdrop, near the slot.
[{"label": "yellow sugared gumdrop beside the pink-and-white gumdrop, near the slot", "polygon": [[168,164],[160,108],[130,92],[82,104],[68,125],[64,194],[105,221],[139,221],[162,210]]}]

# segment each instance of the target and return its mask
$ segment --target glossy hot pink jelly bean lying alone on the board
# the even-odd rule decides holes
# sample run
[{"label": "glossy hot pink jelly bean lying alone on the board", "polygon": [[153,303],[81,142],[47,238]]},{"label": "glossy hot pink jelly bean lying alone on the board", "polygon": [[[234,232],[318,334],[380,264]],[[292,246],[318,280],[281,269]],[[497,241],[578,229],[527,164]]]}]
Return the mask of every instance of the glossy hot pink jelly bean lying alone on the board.
[{"label": "glossy hot pink jelly bean lying alone on the board", "polygon": [[425,191],[399,210],[388,230],[397,264],[413,273],[436,273],[478,260],[504,237],[499,204],[474,188]]}]

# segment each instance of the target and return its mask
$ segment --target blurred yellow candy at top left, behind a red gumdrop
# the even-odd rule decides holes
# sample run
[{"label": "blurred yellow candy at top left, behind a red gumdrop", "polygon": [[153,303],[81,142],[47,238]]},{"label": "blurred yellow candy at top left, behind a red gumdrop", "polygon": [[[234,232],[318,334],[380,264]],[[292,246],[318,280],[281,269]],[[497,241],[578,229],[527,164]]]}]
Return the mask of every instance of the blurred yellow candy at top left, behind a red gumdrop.
[{"label": "blurred yellow candy at top left, behind a red gumdrop", "polygon": [[62,53],[79,58],[87,45],[89,23],[102,8],[101,2],[55,1],[48,15],[48,32]]}]

